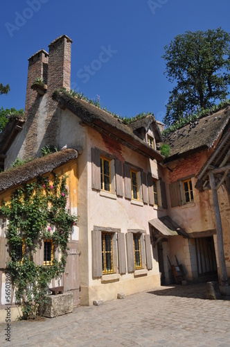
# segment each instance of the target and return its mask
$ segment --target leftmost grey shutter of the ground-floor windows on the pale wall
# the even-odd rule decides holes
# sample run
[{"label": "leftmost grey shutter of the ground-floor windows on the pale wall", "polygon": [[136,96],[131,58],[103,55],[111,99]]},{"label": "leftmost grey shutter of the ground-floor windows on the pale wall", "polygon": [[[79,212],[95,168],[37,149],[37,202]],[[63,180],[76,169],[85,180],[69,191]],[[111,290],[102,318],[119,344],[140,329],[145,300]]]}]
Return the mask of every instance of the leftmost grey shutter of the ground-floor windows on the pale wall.
[{"label": "leftmost grey shutter of the ground-floor windows on the pale wall", "polygon": [[93,278],[103,276],[102,264],[102,248],[101,248],[101,232],[97,230],[92,231],[92,269]]}]

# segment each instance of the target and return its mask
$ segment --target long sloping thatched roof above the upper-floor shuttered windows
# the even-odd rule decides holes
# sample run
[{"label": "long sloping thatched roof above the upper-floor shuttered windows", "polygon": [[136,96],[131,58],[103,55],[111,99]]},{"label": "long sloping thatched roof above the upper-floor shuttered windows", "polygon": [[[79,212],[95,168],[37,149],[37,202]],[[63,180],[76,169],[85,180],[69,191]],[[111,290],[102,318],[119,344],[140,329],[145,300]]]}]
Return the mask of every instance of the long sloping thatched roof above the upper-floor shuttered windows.
[{"label": "long sloping thatched roof above the upper-floor shuttered windows", "polygon": [[65,93],[56,94],[54,99],[59,102],[61,108],[67,108],[85,124],[95,128],[98,132],[113,137],[117,142],[125,144],[125,146],[134,149],[134,151],[145,155],[147,158],[157,159],[159,162],[163,160],[158,151],[152,149],[146,142],[136,136],[132,128],[123,124],[121,119],[109,115],[108,112],[87,101],[77,97],[73,98]]}]

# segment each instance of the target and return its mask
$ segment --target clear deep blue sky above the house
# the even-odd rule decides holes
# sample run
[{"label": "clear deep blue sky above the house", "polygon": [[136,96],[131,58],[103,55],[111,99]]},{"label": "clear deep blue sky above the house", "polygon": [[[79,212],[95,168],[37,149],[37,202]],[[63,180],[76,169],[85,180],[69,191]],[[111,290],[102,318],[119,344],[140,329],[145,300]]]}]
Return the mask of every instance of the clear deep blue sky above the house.
[{"label": "clear deep blue sky above the house", "polygon": [[[73,40],[73,89],[99,95],[123,117],[150,111],[161,120],[172,90],[164,46],[185,31],[221,26],[230,33],[229,10],[229,0],[1,1],[0,82],[10,93],[0,107],[24,108],[28,58],[65,34]],[[103,51],[108,59],[100,59]]]}]

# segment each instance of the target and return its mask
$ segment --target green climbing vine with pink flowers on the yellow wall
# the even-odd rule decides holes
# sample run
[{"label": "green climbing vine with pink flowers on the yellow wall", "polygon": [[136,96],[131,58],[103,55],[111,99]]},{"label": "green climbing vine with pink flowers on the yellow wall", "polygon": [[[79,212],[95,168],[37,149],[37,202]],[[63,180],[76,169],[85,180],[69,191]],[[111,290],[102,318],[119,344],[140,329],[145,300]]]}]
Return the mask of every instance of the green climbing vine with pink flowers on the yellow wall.
[{"label": "green climbing vine with pink flowers on the yellow wall", "polygon": [[[67,176],[52,173],[39,177],[12,193],[3,201],[0,216],[8,219],[6,238],[11,260],[6,270],[11,273],[16,303],[21,306],[22,319],[35,318],[52,278],[60,276],[67,262],[67,242],[77,221],[67,210]],[[35,262],[42,239],[52,239],[60,260],[49,266]],[[18,249],[24,244],[22,260]],[[42,255],[43,256],[43,255]],[[43,258],[42,258],[43,260]],[[42,262],[43,264],[43,262]]]}]

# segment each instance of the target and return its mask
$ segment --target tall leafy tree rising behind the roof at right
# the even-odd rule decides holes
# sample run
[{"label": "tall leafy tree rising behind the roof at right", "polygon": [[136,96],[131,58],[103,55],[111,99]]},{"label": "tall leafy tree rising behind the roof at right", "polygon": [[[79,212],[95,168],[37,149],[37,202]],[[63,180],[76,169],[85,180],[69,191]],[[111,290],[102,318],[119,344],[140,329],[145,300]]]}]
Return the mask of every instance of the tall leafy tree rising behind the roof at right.
[{"label": "tall leafy tree rising behind the roof at right", "polygon": [[186,31],[165,46],[165,74],[175,83],[166,105],[166,125],[226,99],[230,81],[230,35],[221,28]]}]

